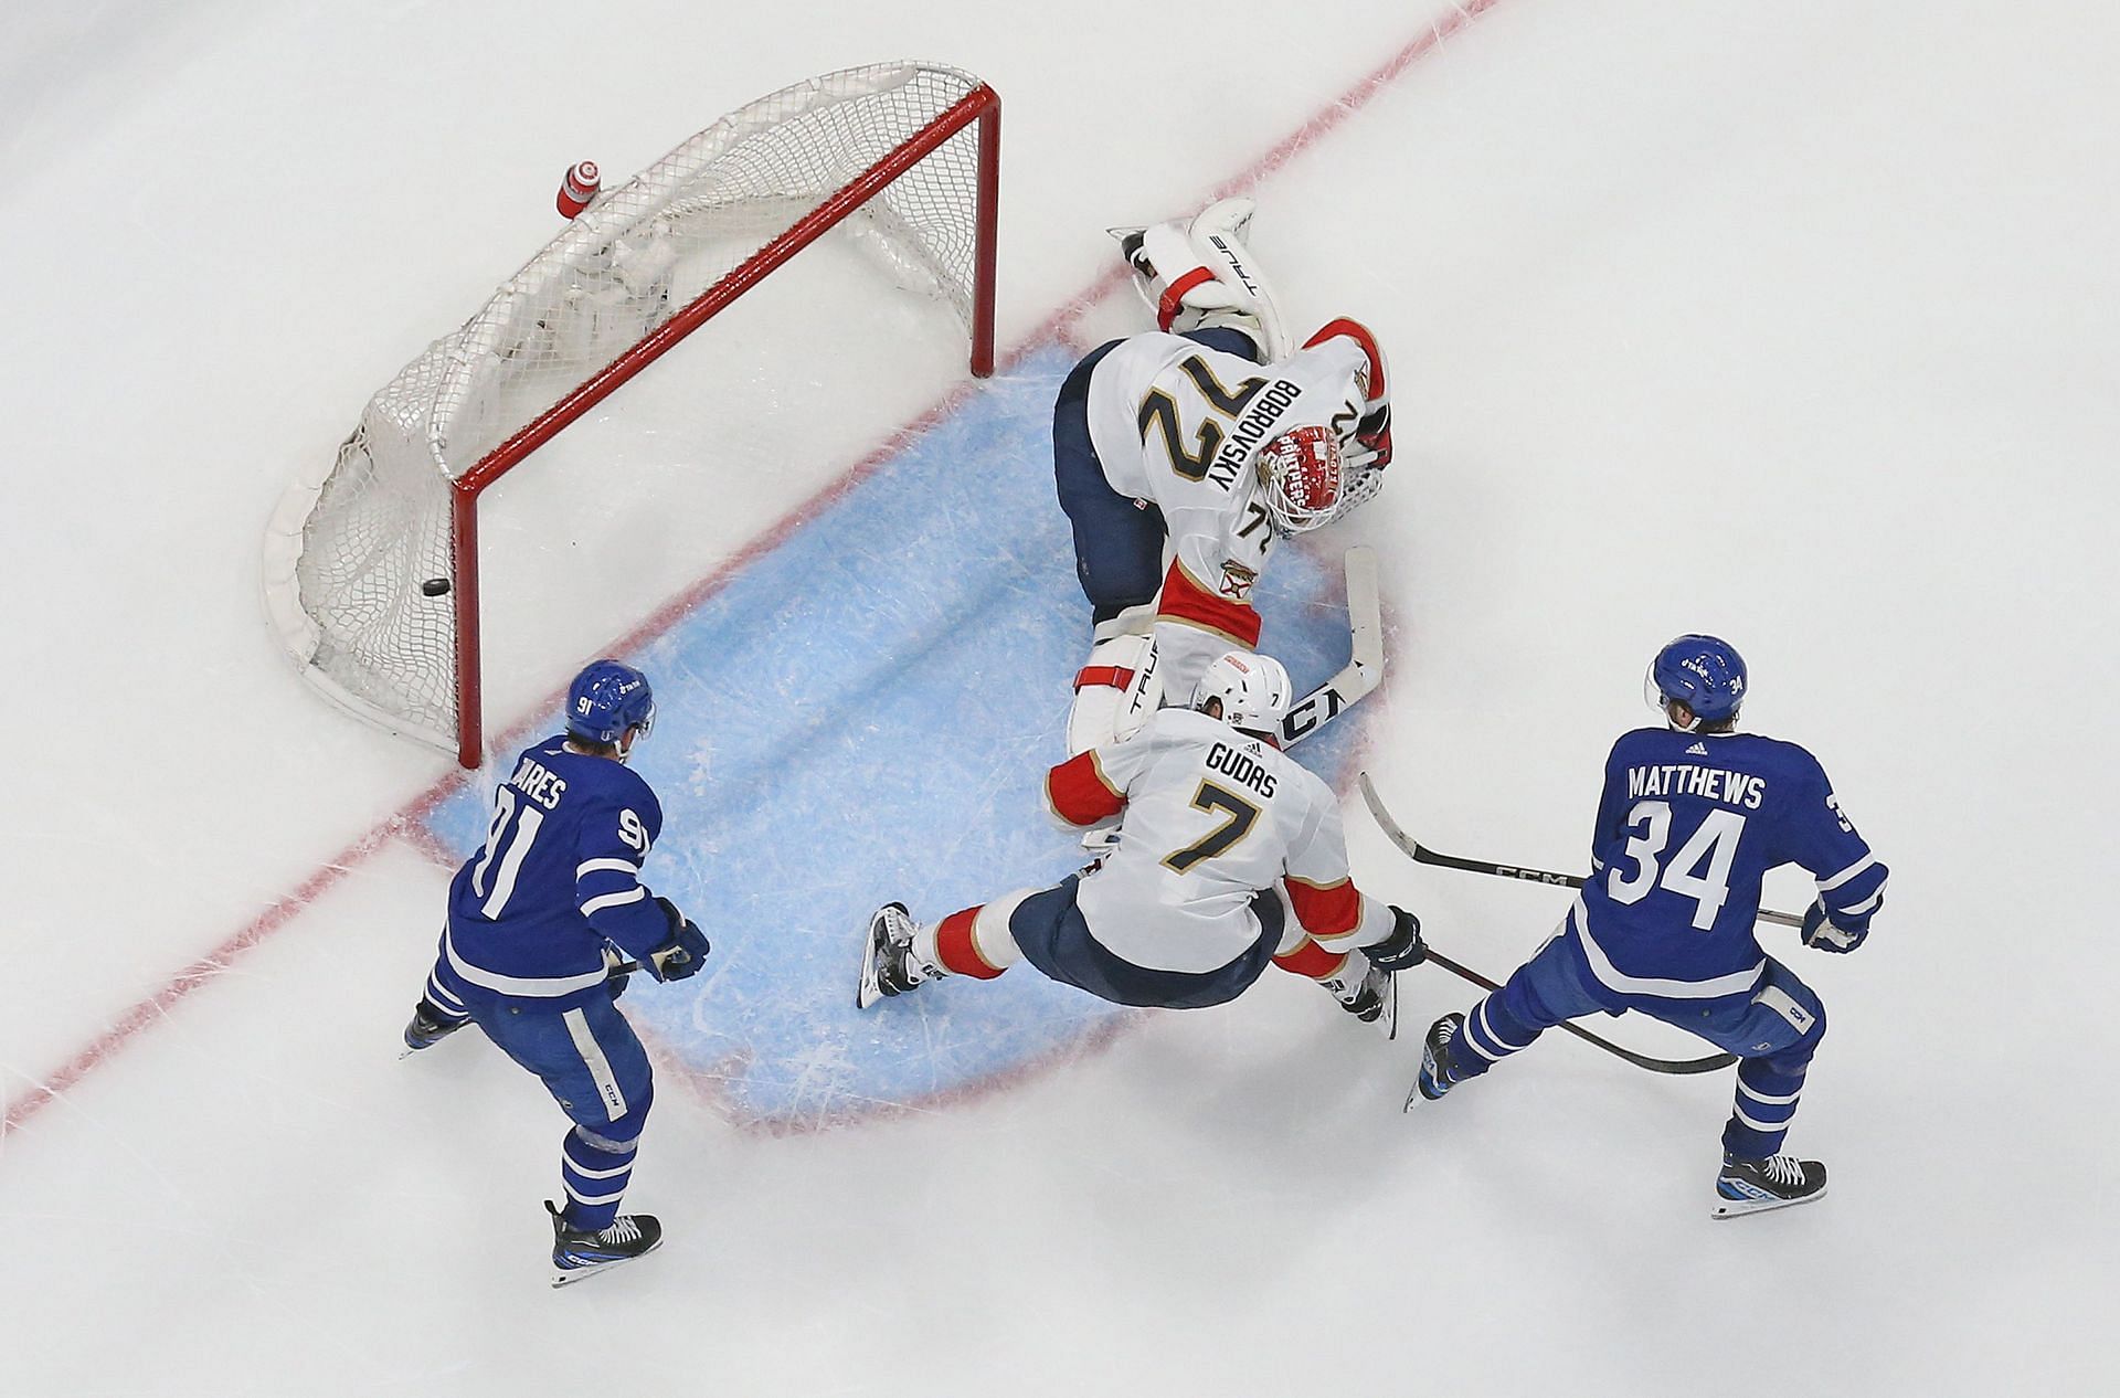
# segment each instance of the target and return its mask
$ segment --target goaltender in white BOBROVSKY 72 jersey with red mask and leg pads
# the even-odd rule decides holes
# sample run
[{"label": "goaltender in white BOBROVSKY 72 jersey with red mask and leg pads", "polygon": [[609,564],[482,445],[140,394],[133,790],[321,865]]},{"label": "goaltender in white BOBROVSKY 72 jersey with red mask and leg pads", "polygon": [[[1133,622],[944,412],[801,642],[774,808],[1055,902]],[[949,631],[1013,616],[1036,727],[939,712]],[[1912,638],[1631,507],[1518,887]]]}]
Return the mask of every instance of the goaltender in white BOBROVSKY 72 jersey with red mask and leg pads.
[{"label": "goaltender in white BOBROVSKY 72 jersey with red mask and leg pads", "polygon": [[1384,356],[1357,320],[1295,348],[1240,242],[1247,199],[1119,231],[1158,329],[1090,352],[1054,405],[1054,482],[1092,609],[1068,751],[1183,702],[1257,647],[1253,586],[1285,535],[1376,494],[1391,460]]}]

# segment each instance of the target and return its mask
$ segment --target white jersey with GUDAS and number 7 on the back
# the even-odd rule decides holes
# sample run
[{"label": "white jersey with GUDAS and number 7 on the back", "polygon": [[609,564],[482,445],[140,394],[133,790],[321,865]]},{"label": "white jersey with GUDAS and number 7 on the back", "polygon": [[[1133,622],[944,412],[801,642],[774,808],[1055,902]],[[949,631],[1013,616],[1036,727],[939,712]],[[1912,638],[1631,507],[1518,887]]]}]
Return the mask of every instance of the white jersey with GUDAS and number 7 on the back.
[{"label": "white jersey with GUDAS and number 7 on the back", "polygon": [[1162,709],[1132,738],[1056,766],[1045,798],[1071,825],[1121,817],[1119,846],[1083,874],[1077,906],[1090,936],[1134,965],[1236,961],[1259,940],[1253,895],[1276,885],[1329,950],[1391,933],[1391,908],[1348,876],[1331,787],[1221,719]]}]

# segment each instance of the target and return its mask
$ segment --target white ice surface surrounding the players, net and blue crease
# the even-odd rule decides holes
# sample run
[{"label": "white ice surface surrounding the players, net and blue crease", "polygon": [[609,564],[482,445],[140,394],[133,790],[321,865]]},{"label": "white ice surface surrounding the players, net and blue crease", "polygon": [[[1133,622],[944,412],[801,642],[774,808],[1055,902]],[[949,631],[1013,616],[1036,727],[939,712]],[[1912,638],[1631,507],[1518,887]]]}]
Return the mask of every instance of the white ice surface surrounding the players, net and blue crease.
[{"label": "white ice surface surrounding the players, net and blue crease", "polygon": [[[1015,344],[1105,272],[1105,225],[1238,178],[1431,8],[13,6],[4,1097],[95,1061],[0,1137],[0,1392],[2103,1392],[2099,4],[1501,0],[1257,187],[1283,305],[1363,316],[1397,371],[1406,479],[1348,541],[1399,622],[1372,770],[1401,821],[1575,861],[1643,658],[1717,630],[1751,726],[1819,751],[1893,863],[1861,955],[1796,957],[1834,1025],[1791,1141],[1832,1163],[1819,1205],[1707,1220],[1721,1078],[1556,1035],[1399,1116],[1416,1046],[1268,978],[880,1126],[746,1135],[672,1093],[634,1184],[670,1245],[553,1294],[555,1114],[483,1046],[394,1061],[443,874],[396,840],[316,874],[445,766],[284,666],[259,530],[549,233],[558,174],[812,72],[960,64],[1007,104]],[[835,414],[731,484],[708,547],[950,386],[803,335]],[[522,649],[502,702],[661,594]],[[1348,825],[1467,961],[1558,912]],[[1420,972],[1403,1014],[1463,991]]]}]

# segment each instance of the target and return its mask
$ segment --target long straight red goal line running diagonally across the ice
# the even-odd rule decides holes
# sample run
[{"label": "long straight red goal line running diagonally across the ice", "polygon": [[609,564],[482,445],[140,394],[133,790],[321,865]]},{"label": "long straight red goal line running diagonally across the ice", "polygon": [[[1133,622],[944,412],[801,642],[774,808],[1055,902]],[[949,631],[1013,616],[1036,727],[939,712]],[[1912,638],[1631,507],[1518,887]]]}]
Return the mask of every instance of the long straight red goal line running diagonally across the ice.
[{"label": "long straight red goal line running diagonally across the ice", "polygon": [[[1272,151],[1261,155],[1257,161],[1253,161],[1234,178],[1215,187],[1208,197],[1219,199],[1257,187],[1259,180],[1268,178],[1270,174],[1287,165],[1302,151],[1317,144],[1319,138],[1331,134],[1333,129],[1340,127],[1340,123],[1344,123],[1357,110],[1367,106],[1372,98],[1376,98],[1384,87],[1389,87],[1393,81],[1406,74],[1406,70],[1412,68],[1418,59],[1433,53],[1446,38],[1450,38],[1467,23],[1471,23],[1473,19],[1478,19],[1480,15],[1499,4],[1501,0],[1461,0],[1442,19],[1435,19],[1420,36],[1403,45],[1389,59],[1378,64],[1367,74],[1363,74],[1353,87],[1348,87],[1329,104],[1319,108],[1317,115],[1310,117],[1310,121],[1306,121],[1287,138],[1283,138]],[[1124,280],[1126,274],[1121,267],[1113,267],[1105,276],[1096,278],[1096,282],[1085,286],[1066,303],[1062,303],[1052,316],[1047,316],[1037,329],[1032,329],[1030,335],[1026,335],[1013,350],[1009,350],[1003,356],[1001,365],[996,365],[996,373],[1007,373],[1026,354],[1045,344],[1068,342],[1073,337],[1075,322],[1081,320],[1081,316],[1088,314],[1092,305],[1111,295],[1111,291],[1115,291]],[[776,522],[763,535],[746,543],[712,573],[708,573],[691,588],[687,588],[678,596],[657,607],[653,615],[640,622],[640,626],[636,626],[630,634],[615,641],[606,649],[606,653],[630,651],[651,641],[653,636],[659,636],[661,632],[670,630],[685,613],[689,613],[700,602],[721,592],[729,583],[729,579],[736,577],[738,571],[757,560],[761,554],[778,547],[789,535],[801,528],[801,524],[814,518],[825,505],[831,505],[848,490],[852,490],[869,475],[873,475],[878,467],[882,467],[899,450],[903,450],[907,441],[929,431],[935,422],[943,420],[948,414],[956,412],[958,403],[962,403],[971,392],[973,384],[969,382],[952,388],[948,395],[943,395],[939,403],[920,414],[916,420],[901,426],[884,443],[880,443],[876,450],[871,450],[867,456],[854,462],[846,471],[846,475],[837,477],[835,482],[812,494],[808,501],[784,513],[780,522]],[[532,723],[538,721],[541,715],[551,711],[553,704],[558,704],[558,698],[560,698],[558,692],[553,692],[553,696],[547,702],[532,706],[530,713],[524,719],[519,719],[511,730],[502,732],[498,738],[492,738],[490,747],[505,749],[509,740],[524,734]],[[420,838],[416,834],[418,823],[424,821],[426,815],[460,781],[462,776],[456,772],[437,781],[432,787],[422,791],[418,800],[407,804],[403,810],[396,810],[394,815],[382,819],[373,829],[369,829],[365,836],[348,844],[320,870],[301,880],[301,885],[293,893],[288,893],[286,897],[265,908],[265,912],[250,919],[250,923],[246,923],[240,931],[220,942],[220,946],[212,948],[184,969],[176,972],[176,976],[172,976],[167,984],[163,984],[159,991],[155,991],[146,999],[125,1010],[125,1014],[121,1014],[117,1023],[112,1023],[81,1052],[68,1059],[59,1069],[45,1076],[45,1080],[38,1082],[28,1093],[8,1101],[6,1118],[0,1118],[0,1139],[19,1131],[30,1118],[34,1118],[47,1105],[57,1101],[61,1093],[81,1082],[100,1063],[108,1061],[112,1052],[129,1044],[142,1029],[161,1018],[180,999],[184,999],[199,986],[210,984],[216,976],[229,969],[229,965],[246,950],[263,942],[280,927],[286,927],[297,912],[301,912],[318,897],[322,897],[326,891],[331,891],[341,878],[346,878],[346,874],[354,870],[354,866],[365,861],[369,855],[388,844],[392,838],[399,836],[411,838],[424,851],[435,853],[432,840]],[[1022,1069],[1005,1073],[1003,1080],[1013,1082],[1020,1076]],[[962,1095],[965,1095],[962,1088],[958,1088],[943,1097],[960,1099]]]}]

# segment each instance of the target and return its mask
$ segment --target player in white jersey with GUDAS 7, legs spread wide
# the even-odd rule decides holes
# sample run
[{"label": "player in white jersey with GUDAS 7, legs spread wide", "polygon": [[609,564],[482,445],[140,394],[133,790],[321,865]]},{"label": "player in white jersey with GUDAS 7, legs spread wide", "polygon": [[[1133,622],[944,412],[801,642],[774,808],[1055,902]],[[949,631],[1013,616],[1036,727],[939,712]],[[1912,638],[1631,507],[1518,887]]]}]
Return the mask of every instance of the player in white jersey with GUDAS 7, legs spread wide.
[{"label": "player in white jersey with GUDAS 7, legs spread wide", "polygon": [[1280,662],[1227,651],[1194,709],[1164,709],[1132,738],[1052,768],[1054,815],[1117,819],[1115,849],[1052,889],[937,923],[878,908],[856,1003],[1030,961],[1121,1006],[1191,1010],[1234,999],[1272,961],[1389,1027],[1391,974],[1427,955],[1420,921],[1355,887],[1340,802],[1270,736],[1287,702]]}]

